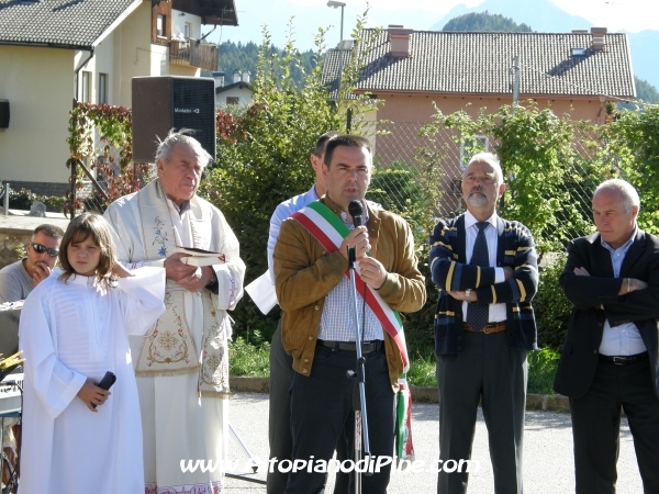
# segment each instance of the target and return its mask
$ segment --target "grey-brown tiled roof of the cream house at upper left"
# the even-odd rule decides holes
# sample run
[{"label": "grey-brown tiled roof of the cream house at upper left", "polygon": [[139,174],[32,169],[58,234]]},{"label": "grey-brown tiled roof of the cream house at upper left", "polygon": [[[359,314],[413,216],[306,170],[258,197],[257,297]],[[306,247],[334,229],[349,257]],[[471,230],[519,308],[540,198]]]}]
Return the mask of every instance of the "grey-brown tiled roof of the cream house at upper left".
[{"label": "grey-brown tiled roof of the cream house at upper left", "polygon": [[142,0],[0,0],[0,44],[86,49]]}]

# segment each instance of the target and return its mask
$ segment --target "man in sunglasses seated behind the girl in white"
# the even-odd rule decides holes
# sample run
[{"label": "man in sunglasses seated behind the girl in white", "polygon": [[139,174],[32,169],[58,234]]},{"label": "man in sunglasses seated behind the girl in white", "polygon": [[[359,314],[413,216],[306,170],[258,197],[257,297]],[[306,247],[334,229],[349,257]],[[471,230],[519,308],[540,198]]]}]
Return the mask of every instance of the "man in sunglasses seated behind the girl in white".
[{"label": "man in sunglasses seated behind the girl in white", "polygon": [[27,294],[51,276],[57,262],[64,232],[58,226],[40,225],[25,246],[27,257],[0,270],[0,303],[25,300]]}]

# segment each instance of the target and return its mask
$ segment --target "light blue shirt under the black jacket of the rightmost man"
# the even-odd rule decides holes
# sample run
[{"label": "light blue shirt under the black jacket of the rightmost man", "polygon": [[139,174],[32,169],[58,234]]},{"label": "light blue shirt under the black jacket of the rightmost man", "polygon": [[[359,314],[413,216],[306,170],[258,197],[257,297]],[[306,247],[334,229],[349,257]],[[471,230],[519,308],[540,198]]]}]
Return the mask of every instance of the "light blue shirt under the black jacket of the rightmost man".
[{"label": "light blue shirt under the black jacket of the rightmost man", "polygon": [[[637,228],[634,228],[632,237],[625,243],[625,245],[614,249],[611,247],[602,237],[600,240],[602,247],[604,247],[611,254],[611,262],[613,265],[613,276],[619,278],[621,267],[627,255],[627,250],[634,244],[636,238]],[[602,334],[602,343],[600,344],[600,353],[607,356],[629,356],[637,355],[647,351],[645,344],[638,333],[638,328],[634,323],[621,324],[611,327],[608,319],[604,323],[604,333]]]}]

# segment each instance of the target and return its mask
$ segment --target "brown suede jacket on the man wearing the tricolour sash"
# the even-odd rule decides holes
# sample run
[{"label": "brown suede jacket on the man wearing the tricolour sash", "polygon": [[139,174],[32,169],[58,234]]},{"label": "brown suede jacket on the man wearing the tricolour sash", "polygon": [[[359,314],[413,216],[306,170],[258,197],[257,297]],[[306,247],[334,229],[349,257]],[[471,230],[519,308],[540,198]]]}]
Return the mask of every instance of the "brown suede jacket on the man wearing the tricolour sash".
[{"label": "brown suede jacket on the man wearing the tricolour sash", "polygon": [[[340,209],[326,195],[321,202],[340,214]],[[424,277],[416,268],[410,226],[388,211],[368,207],[368,216],[371,255],[388,272],[378,293],[396,311],[418,311],[425,303],[426,292]],[[281,224],[273,261],[277,299],[284,311],[283,347],[293,357],[293,370],[310,375],[325,296],[345,276],[348,261],[338,251],[328,254],[294,218]],[[389,378],[395,391],[403,362],[393,339],[384,335]]]}]

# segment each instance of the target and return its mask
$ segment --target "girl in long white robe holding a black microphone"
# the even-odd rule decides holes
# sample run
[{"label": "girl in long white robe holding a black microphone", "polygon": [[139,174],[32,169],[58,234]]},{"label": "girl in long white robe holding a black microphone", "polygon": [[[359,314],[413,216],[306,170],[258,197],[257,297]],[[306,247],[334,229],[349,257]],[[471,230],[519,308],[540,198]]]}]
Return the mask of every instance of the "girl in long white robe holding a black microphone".
[{"label": "girl in long white robe holding a black microphone", "polygon": [[[62,269],[23,305],[21,494],[144,494],[127,334],[145,334],[165,311],[165,269],[131,274],[115,262],[110,229],[98,214],[71,221]],[[116,375],[110,391],[96,385],[107,371]]]}]

